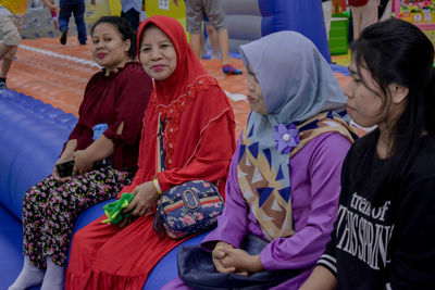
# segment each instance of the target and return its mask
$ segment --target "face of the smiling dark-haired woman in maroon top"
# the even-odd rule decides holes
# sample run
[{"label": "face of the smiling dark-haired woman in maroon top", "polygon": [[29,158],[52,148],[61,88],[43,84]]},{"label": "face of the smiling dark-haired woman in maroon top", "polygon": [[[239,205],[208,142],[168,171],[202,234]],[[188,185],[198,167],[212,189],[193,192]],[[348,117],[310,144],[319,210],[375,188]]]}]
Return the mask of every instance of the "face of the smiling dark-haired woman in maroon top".
[{"label": "face of the smiling dark-haired woman in maroon top", "polygon": [[117,28],[110,23],[97,25],[92,34],[94,60],[108,72],[116,68],[126,58],[132,42],[123,40]]}]

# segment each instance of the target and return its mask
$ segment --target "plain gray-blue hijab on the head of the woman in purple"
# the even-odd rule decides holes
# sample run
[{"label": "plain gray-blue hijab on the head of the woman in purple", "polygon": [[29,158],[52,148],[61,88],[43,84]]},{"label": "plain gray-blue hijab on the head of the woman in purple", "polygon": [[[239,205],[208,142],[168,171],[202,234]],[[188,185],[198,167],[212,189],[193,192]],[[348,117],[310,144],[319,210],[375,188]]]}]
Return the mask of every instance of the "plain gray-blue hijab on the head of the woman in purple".
[{"label": "plain gray-blue hijab on the head of the woman in purple", "polygon": [[[295,31],[278,31],[240,47],[263,91],[270,118],[306,121],[344,109],[346,97],[313,42]],[[271,121],[272,121],[271,119]]]}]

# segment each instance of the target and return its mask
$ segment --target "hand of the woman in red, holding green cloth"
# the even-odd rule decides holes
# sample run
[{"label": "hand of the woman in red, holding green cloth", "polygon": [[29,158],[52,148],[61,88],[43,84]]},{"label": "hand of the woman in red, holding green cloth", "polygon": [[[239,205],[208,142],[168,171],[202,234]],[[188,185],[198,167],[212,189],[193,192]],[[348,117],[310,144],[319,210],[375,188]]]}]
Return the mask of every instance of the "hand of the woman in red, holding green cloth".
[{"label": "hand of the woman in red, holding green cloth", "polygon": [[152,212],[156,201],[159,199],[159,193],[152,180],[137,186],[132,191],[132,194],[134,194],[135,198],[128,206],[124,209],[124,212],[129,212],[133,216],[141,216]]}]

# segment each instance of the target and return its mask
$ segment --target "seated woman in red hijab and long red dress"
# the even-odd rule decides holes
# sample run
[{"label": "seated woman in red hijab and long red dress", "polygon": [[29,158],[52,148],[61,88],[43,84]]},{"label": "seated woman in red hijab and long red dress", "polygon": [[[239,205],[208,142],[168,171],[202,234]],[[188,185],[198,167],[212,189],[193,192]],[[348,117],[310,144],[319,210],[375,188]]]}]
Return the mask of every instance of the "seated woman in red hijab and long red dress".
[{"label": "seated woman in red hijab and long red dress", "polygon": [[[224,193],[235,149],[234,115],[224,91],[195,56],[182,25],[153,16],[139,27],[139,60],[154,79],[146,111],[139,169],[121,192],[135,194],[121,226],[101,217],[74,237],[65,289],[141,289],[153,266],[183,240],[152,230],[159,193],[206,179]],[[165,171],[159,172],[158,125],[162,124]]]}]

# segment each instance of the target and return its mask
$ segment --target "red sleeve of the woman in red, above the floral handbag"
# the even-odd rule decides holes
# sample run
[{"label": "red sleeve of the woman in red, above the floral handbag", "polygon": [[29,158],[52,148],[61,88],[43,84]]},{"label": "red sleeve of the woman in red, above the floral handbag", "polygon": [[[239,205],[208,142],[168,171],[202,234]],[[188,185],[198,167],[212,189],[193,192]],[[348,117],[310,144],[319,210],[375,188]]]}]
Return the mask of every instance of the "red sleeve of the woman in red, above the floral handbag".
[{"label": "red sleeve of the woman in red, above the floral handbag", "polygon": [[183,168],[173,168],[158,174],[162,191],[195,179],[217,181],[227,175],[234,152],[234,119],[231,108],[214,119],[201,134],[198,150]]}]

